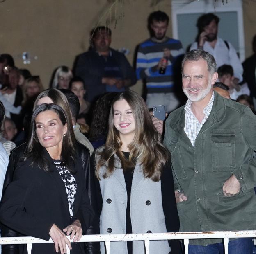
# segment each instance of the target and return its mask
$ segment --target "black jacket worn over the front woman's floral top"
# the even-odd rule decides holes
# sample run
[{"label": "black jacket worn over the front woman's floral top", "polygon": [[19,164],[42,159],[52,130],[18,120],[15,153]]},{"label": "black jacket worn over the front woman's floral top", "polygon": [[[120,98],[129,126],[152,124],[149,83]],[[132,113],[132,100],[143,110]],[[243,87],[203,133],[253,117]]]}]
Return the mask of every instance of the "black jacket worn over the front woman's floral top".
[{"label": "black jacket worn over the front woman's floral top", "polygon": [[[50,162],[50,172],[31,166],[31,160],[18,162],[13,181],[6,188],[0,206],[0,220],[4,225],[26,235],[49,240],[53,223],[60,229],[79,219],[83,232],[91,225],[94,212],[91,208],[83,178],[82,162],[75,160],[73,171],[77,184],[73,204],[73,218],[69,216],[66,187],[50,155],[44,150]],[[73,251],[80,249],[72,244]],[[53,244],[34,244],[32,253],[55,253]]]}]

